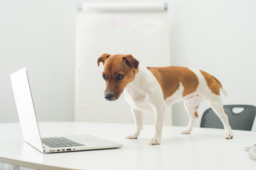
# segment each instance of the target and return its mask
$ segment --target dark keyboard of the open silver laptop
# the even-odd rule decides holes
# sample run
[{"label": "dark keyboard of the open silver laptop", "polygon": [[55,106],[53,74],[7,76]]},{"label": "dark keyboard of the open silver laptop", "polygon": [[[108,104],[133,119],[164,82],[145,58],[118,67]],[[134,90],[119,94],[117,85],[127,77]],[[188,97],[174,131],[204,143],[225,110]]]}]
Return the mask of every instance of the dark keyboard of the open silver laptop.
[{"label": "dark keyboard of the open silver laptop", "polygon": [[47,137],[42,138],[42,142],[44,145],[48,147],[79,147],[85,146],[73,140],[69,140],[65,137]]}]

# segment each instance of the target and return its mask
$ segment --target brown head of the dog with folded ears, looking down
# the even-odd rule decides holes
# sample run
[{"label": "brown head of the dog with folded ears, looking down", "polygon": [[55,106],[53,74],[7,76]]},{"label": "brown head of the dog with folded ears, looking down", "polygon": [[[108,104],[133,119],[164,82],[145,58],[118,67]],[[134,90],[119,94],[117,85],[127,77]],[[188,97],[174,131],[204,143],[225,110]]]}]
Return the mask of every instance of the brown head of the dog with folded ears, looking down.
[{"label": "brown head of the dog with folded ears, looking down", "polygon": [[124,91],[127,84],[134,80],[139,71],[139,61],[132,55],[101,55],[97,64],[104,65],[102,77],[106,81],[105,98],[107,101],[115,101]]}]

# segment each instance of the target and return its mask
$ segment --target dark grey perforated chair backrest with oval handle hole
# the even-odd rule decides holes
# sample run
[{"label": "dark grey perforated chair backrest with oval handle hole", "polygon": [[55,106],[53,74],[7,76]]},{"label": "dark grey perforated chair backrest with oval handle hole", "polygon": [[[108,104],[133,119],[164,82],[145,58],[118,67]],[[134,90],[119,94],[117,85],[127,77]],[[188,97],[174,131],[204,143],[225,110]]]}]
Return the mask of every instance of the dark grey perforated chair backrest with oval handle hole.
[{"label": "dark grey perforated chair backrest with oval handle hole", "polygon": [[[225,113],[228,115],[228,121],[233,130],[252,130],[255,120],[256,107],[250,105],[225,105],[223,106]],[[242,111],[235,111],[242,109]],[[201,128],[217,128],[224,129],[223,123],[215,114],[213,109],[208,108],[201,120]]]}]

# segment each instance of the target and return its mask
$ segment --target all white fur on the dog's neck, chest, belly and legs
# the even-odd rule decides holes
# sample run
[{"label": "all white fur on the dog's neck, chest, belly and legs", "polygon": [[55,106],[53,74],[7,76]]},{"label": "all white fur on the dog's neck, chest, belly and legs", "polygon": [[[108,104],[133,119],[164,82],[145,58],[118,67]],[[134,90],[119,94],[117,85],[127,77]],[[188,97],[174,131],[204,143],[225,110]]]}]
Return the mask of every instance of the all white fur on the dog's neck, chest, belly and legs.
[{"label": "all white fur on the dog's neck, chest, belly and legs", "polygon": [[[213,94],[208,88],[207,82],[198,69],[191,69],[198,77],[198,88],[192,94],[182,96],[183,85],[180,83],[176,92],[164,100],[164,94],[161,90],[159,82],[156,77],[147,69],[140,65],[139,72],[135,75],[134,81],[127,85],[124,89],[124,97],[132,108],[134,115],[135,129],[130,135],[129,139],[136,139],[142,130],[142,113],[154,112],[155,113],[155,133],[154,137],[149,141],[149,145],[159,145],[161,142],[161,133],[164,122],[164,113],[167,106],[171,106],[176,102],[185,101],[184,106],[190,118],[188,126],[182,134],[189,134],[193,128],[194,120],[196,119],[195,112],[197,107],[203,100],[206,99],[213,111],[217,113],[222,120],[225,127],[225,137],[230,139],[233,137],[232,130],[228,124],[228,116],[223,111],[223,104],[221,97]],[[227,94],[225,90],[222,90],[223,94]]]}]

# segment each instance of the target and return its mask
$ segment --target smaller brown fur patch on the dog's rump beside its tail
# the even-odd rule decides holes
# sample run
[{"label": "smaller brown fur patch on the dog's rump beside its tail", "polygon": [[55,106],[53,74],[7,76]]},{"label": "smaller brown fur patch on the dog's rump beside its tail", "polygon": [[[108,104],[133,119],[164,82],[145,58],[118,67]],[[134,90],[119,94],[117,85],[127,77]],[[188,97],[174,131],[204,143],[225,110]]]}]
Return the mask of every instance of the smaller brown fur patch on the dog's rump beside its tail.
[{"label": "smaller brown fur patch on the dog's rump beside its tail", "polygon": [[212,91],[213,94],[220,95],[220,88],[222,88],[220,81],[218,81],[218,79],[208,74],[207,72],[203,72],[202,70],[200,70],[200,72],[201,74],[203,74],[203,77],[206,79],[206,82],[210,91]]}]

